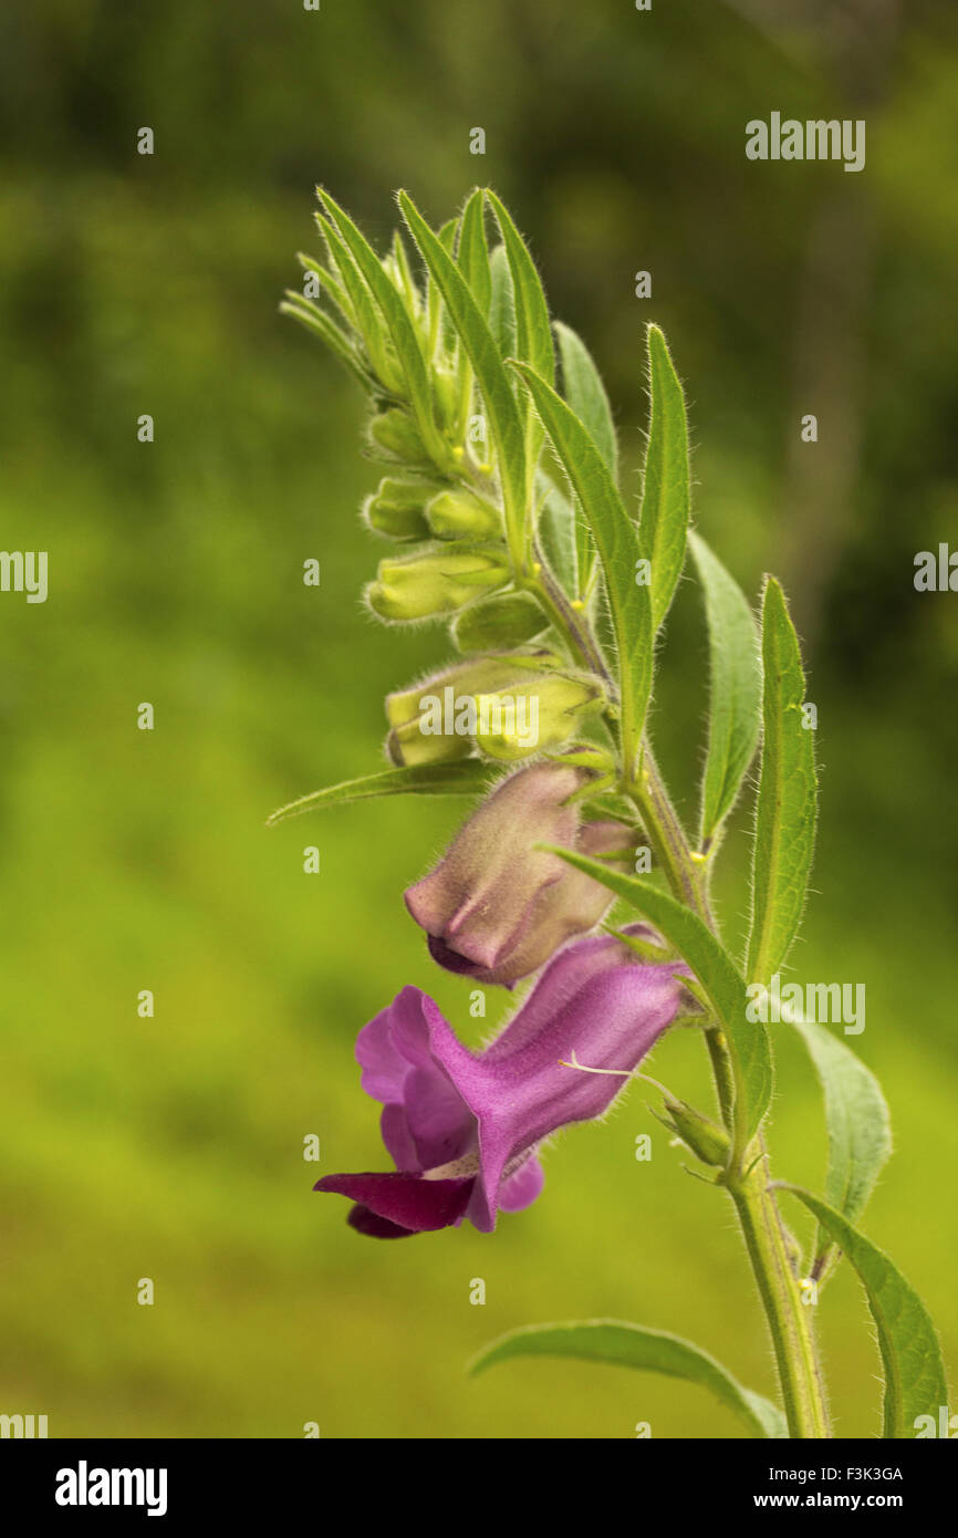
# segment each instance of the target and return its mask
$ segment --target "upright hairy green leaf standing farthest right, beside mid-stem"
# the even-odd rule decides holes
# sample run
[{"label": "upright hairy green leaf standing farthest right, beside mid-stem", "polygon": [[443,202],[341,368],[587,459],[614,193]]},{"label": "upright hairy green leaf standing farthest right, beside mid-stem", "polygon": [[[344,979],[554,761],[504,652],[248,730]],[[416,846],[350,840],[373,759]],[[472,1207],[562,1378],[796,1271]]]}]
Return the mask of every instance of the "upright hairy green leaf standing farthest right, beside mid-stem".
[{"label": "upright hairy green leaf standing farthest right, beside mid-stem", "polygon": [[803,724],[801,651],[784,594],[773,577],[766,581],[763,600],[761,658],[764,731],[747,964],[753,983],[770,981],[798,930],[812,869],[818,801],[815,741]]}]

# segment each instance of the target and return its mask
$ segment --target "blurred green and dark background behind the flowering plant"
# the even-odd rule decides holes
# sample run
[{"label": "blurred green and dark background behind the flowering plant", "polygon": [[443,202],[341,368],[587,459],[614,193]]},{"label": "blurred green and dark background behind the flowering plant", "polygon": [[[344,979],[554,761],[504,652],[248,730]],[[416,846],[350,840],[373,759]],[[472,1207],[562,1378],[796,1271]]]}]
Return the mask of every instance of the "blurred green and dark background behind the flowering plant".
[{"label": "blurred green and dark background behind the flowering plant", "polygon": [[[503,1329],[583,1315],[687,1333],[772,1390],[730,1212],[683,1173],[643,1086],[558,1143],[543,1198],[494,1238],[380,1244],[311,1195],[306,1134],[320,1172],[386,1166],[352,1044],[401,984],[467,1040],[489,1026],[400,898],[464,803],[263,827],[375,767],[383,694],[447,655],[440,631],[361,611],[360,394],[277,315],[317,245],[315,181],[380,245],[397,186],[434,223],[495,186],[606,375],[627,486],[643,328],[666,328],[698,524],[747,591],[780,572],[807,643],[823,820],[792,975],[867,986],[853,1044],[896,1154],[864,1227],[958,1360],[958,598],[912,586],[958,509],[956,23],[923,0],[5,11],[0,543],[49,551],[51,594],[0,597],[0,1410],[48,1413],[52,1436],[738,1435],[700,1390],[618,1369],[464,1378]],[[744,123],[772,109],[864,117],[864,172],[746,161]],[[686,581],[655,732],[689,812],[704,661]],[[730,935],[749,815],[726,852]],[[784,1029],[777,1046],[775,1170],[818,1184],[817,1084]],[[690,1032],[652,1072],[707,1094]],[[846,1269],[820,1324],[838,1433],[877,1433]]]}]

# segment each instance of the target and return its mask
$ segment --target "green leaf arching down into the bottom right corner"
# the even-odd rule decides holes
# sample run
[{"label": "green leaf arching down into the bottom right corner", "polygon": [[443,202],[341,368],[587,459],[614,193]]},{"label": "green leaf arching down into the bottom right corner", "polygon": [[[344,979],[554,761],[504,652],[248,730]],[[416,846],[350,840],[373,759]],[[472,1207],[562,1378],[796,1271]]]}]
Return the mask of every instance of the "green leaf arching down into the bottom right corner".
[{"label": "green leaf arching down into the bottom right corner", "polygon": [[938,1426],[938,1410],[949,1403],[947,1380],[938,1335],[924,1303],[889,1257],[827,1201],[801,1186],[778,1184],[798,1197],[841,1246],[866,1290],[884,1364],[881,1435],[895,1441],[913,1438],[920,1415],[930,1415]]}]

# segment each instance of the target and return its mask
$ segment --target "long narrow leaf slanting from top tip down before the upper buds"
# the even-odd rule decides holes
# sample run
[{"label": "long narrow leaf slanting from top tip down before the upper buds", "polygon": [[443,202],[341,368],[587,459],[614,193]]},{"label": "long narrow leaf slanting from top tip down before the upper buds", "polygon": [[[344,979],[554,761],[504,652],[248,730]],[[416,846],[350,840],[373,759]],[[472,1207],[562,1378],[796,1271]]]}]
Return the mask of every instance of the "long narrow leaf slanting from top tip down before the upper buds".
[{"label": "long narrow leaf slanting from top tip down before the upper buds", "polygon": [[429,229],[407,192],[400,208],[449,311],[483,392],[489,429],[498,457],[509,551],[517,564],[526,549],[526,449],[515,395],[497,343],[452,257]]}]

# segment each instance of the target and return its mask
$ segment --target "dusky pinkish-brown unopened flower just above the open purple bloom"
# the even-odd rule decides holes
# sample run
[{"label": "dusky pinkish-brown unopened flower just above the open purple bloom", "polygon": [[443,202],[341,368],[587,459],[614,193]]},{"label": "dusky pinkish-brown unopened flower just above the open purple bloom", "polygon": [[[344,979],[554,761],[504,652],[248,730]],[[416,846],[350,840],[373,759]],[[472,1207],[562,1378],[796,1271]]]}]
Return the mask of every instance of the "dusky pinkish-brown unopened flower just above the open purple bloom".
[{"label": "dusky pinkish-brown unopened flower just above the open purple bloom", "polygon": [[534,847],[624,852],[632,837],[626,827],[580,823],[580,806],[567,804],[587,780],[572,764],[520,769],[472,814],[435,871],[406,892],[406,907],[440,966],[512,987],[600,921],[609,891]]}]

